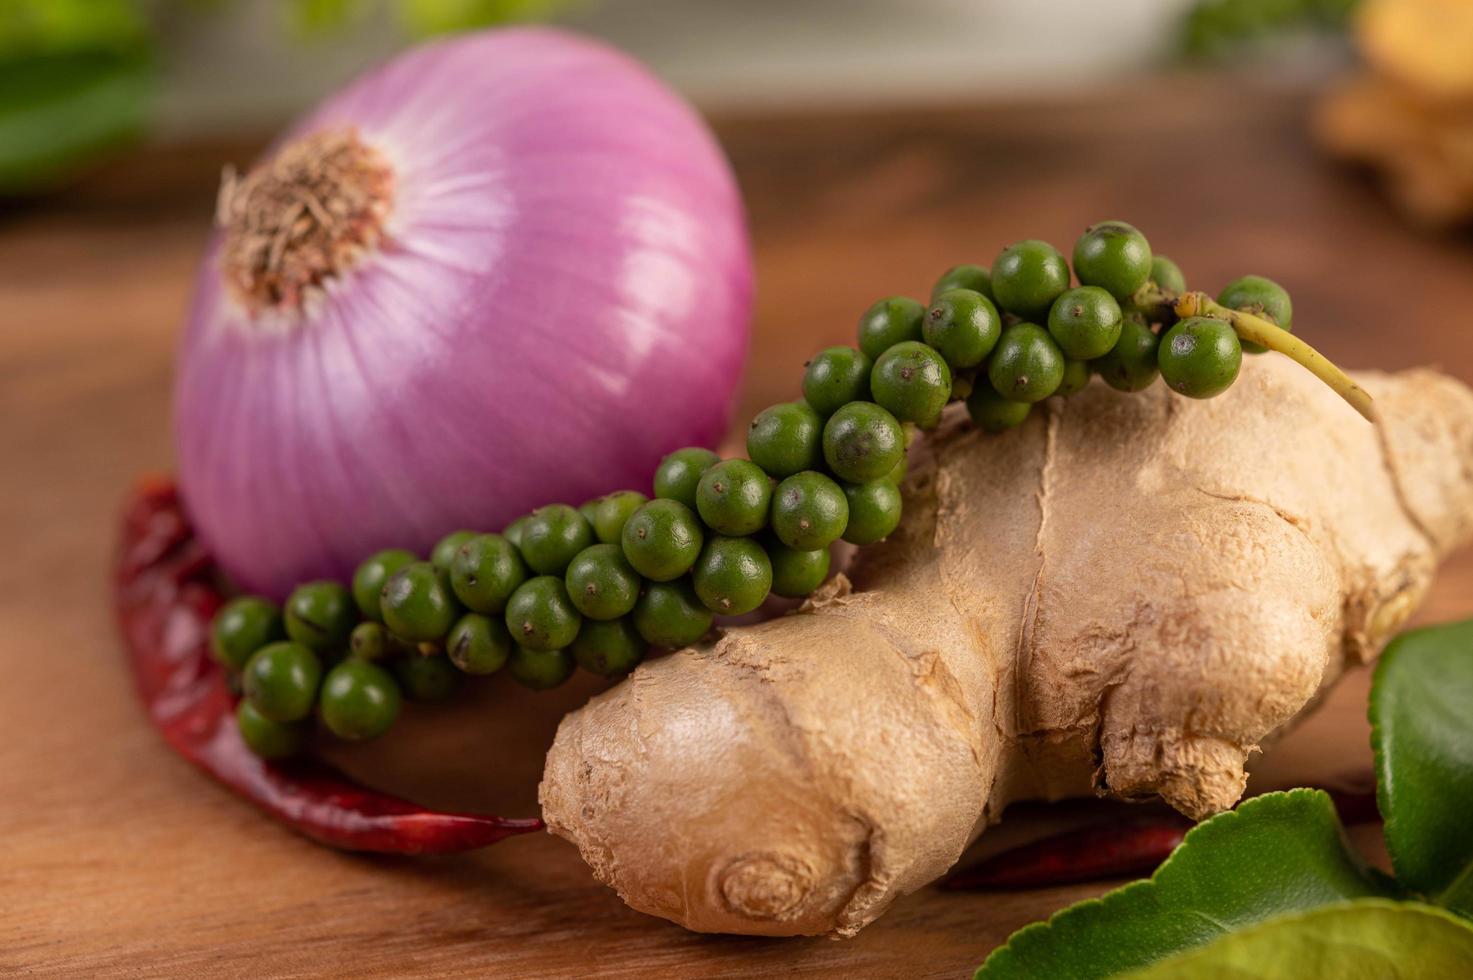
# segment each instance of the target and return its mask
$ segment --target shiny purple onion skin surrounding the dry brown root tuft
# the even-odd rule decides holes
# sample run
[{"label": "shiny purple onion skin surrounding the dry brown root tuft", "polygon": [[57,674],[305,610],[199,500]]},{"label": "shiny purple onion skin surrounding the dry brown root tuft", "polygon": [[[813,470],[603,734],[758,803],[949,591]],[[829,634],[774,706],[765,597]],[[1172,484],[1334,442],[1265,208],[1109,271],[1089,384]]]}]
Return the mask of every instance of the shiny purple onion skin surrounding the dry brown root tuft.
[{"label": "shiny purple onion skin surrounding the dry brown root tuft", "polygon": [[175,386],[180,482],[243,588],[345,581],[548,503],[650,489],[714,445],[747,351],[741,197],[695,112],[551,29],[408,52],[292,128],[356,127],[387,243],[295,323],[224,287],[217,233]]}]

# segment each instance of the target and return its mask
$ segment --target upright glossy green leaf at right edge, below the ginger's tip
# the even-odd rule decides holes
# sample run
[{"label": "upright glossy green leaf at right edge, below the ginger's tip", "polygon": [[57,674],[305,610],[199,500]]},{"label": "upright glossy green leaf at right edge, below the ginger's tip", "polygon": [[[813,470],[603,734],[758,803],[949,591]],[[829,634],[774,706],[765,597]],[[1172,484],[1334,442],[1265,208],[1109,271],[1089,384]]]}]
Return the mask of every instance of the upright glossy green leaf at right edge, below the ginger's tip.
[{"label": "upright glossy green leaf at right edge, below the ginger's tip", "polygon": [[1370,716],[1398,881],[1473,917],[1473,620],[1396,637]]}]

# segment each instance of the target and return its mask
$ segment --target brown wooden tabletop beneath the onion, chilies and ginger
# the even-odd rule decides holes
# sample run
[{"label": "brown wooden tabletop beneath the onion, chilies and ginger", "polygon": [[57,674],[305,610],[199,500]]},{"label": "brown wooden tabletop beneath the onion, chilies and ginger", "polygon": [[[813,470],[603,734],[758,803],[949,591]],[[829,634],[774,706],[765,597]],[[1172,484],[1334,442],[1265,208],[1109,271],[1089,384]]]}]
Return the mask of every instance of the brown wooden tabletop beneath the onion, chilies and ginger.
[{"label": "brown wooden tabletop beneath the onion, chilies and ginger", "polygon": [[[797,365],[847,342],[873,296],[1112,217],[1198,283],[1271,273],[1335,358],[1473,380],[1473,246],[1417,237],[1367,180],[1320,159],[1307,106],[1181,80],[1069,105],[722,121],[760,280],[739,417],[790,398]],[[844,943],[703,937],[626,909],[560,840],[333,853],[171,756],[122,666],[108,556],[130,479],[169,466],[171,351],[219,167],[252,146],[153,150],[44,203],[0,205],[0,526],[16,545],[0,563],[0,974],[956,977],[1103,890],[928,889]],[[1461,556],[1424,617],[1466,615],[1470,585]],[[1363,699],[1352,679],[1280,768],[1326,743],[1342,769],[1364,766]],[[510,766],[523,797],[538,765]],[[1019,811],[984,844],[1058,815]]]}]

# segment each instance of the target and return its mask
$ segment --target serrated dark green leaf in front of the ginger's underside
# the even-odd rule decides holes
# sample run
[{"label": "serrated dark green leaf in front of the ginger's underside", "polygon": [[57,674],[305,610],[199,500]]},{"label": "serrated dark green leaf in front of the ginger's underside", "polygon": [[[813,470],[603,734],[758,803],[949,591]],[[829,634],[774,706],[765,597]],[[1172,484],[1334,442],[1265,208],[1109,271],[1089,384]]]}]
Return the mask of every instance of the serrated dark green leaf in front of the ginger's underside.
[{"label": "serrated dark green leaf in front of the ginger's underside", "polygon": [[1199,824],[1147,881],[1013,933],[977,977],[1112,977],[1274,915],[1392,895],[1346,846],[1327,794],[1267,793]]}]

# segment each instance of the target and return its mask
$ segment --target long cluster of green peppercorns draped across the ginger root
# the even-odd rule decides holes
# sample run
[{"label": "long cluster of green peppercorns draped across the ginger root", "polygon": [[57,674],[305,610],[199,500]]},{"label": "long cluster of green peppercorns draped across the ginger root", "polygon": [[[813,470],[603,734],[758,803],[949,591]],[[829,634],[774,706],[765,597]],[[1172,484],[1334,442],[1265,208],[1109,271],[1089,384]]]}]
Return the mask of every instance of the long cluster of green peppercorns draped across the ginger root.
[{"label": "long cluster of green peppercorns draped across the ginger root", "polygon": [[[873,544],[900,523],[906,447],[953,401],[1000,432],[1091,374],[1127,392],[1158,374],[1193,398],[1226,391],[1249,345],[1226,320],[1178,320],[1184,290],[1177,265],[1121,221],[1084,231],[1072,274],[1053,246],[1019,242],[991,268],[947,270],[929,305],[869,307],[857,346],[819,352],[803,398],[753,419],[747,458],[676,449],[653,497],[551,504],[501,533],[451,533],[427,560],[380,551],[351,585],[308,582],[283,609],[233,600],[214,653],[239,675],[240,732],[262,756],[292,755],[315,712],[339,738],[374,738],[404,697],[449,697],[467,675],[505,669],[533,690],[579,666],[619,676],[648,647],[701,640],[717,615],[809,595],[829,545]],[[1287,293],[1262,277],[1228,284],[1218,305],[1290,329]]]}]

